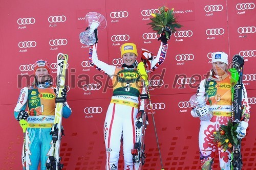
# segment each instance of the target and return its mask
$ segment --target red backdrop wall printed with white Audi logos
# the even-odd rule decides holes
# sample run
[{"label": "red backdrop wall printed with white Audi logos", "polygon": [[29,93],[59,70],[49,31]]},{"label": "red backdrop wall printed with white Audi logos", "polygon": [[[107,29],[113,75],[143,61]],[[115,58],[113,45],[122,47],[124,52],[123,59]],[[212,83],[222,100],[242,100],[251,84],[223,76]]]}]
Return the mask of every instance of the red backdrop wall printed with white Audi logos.
[{"label": "red backdrop wall printed with white Audi logos", "polygon": [[[243,169],[256,169],[255,4],[255,0],[1,1],[0,169],[22,168],[23,133],[13,111],[20,88],[27,84],[18,75],[32,74],[31,64],[45,59],[55,76],[58,53],[69,55],[68,102],[72,108],[71,117],[63,120],[65,136],[60,155],[64,169],[104,169],[103,122],[111,90],[105,83],[98,84],[99,80],[108,82],[109,79],[89,65],[89,48],[79,41],[79,33],[87,27],[84,16],[95,11],[106,17],[108,26],[98,32],[98,56],[106,63],[118,65],[119,47],[125,42],[136,43],[139,54],[141,48],[157,54],[158,36],[146,24],[150,22],[150,14],[163,5],[174,8],[179,23],[184,26],[169,40],[166,61],[154,72],[157,76],[150,88],[152,102],[159,106],[154,108],[154,114],[165,169],[200,168],[199,119],[190,116],[188,100],[210,69],[210,56],[216,51],[245,58],[244,84],[251,119],[242,143]],[[90,107],[98,107],[98,112],[89,113]],[[160,169],[149,116],[145,139],[148,157],[143,169]],[[121,156],[120,169],[122,163]]]}]

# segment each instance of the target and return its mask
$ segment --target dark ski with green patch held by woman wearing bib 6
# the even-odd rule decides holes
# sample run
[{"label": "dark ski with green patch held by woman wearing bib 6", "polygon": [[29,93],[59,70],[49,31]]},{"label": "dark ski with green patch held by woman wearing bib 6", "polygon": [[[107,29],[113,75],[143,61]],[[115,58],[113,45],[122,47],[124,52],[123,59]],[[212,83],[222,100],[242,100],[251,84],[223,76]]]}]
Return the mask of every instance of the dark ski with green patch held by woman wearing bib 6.
[{"label": "dark ski with green patch held by woman wearing bib 6", "polygon": [[[233,83],[231,88],[233,125],[239,124],[242,116],[243,65],[243,57],[234,55],[232,58],[232,68],[229,69],[232,78],[231,83]],[[233,147],[232,166],[236,170],[242,169],[241,139]]]}]

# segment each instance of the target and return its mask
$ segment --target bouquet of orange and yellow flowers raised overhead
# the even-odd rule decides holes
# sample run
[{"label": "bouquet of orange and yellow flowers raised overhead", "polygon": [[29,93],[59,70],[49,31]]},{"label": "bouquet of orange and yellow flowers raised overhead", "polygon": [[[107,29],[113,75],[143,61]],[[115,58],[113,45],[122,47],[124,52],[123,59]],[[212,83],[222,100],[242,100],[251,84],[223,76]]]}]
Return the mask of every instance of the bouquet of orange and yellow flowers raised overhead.
[{"label": "bouquet of orange and yellow flowers raised overhead", "polygon": [[159,13],[155,12],[155,13],[151,14],[153,16],[153,18],[150,18],[152,20],[152,22],[147,23],[147,25],[151,25],[151,28],[154,31],[157,31],[157,34],[162,34],[164,31],[166,38],[167,38],[170,35],[165,30],[165,27],[168,27],[172,33],[177,32],[177,30],[175,30],[175,28],[183,27],[177,22],[177,20],[174,16],[174,14],[173,14],[174,9],[170,10],[165,6],[162,6],[162,7],[159,7],[158,10],[159,10]]}]

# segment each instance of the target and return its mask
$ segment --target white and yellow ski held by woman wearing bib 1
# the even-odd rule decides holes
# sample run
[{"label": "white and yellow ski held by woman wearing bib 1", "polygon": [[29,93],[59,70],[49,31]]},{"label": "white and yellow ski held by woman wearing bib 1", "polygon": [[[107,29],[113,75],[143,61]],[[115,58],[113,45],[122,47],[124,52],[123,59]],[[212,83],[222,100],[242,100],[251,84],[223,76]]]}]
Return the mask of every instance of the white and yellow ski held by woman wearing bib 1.
[{"label": "white and yellow ski held by woman wearing bib 1", "polygon": [[61,157],[59,157],[60,140],[63,134],[62,122],[62,106],[66,102],[65,98],[62,98],[61,91],[65,88],[66,69],[68,64],[68,55],[59,53],[57,55],[57,78],[56,78],[56,107],[54,124],[52,125],[51,135],[53,141],[52,155],[49,156],[50,162],[46,163],[47,170],[60,170],[63,168],[63,164],[60,163]]}]

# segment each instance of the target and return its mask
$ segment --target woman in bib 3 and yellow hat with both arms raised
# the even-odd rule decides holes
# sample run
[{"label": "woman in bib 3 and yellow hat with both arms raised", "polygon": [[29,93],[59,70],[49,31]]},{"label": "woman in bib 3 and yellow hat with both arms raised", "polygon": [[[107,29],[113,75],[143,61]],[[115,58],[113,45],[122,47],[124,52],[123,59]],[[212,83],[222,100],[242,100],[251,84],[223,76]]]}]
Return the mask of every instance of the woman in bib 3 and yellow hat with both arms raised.
[{"label": "woman in bib 3 and yellow hat with both arms raised", "polygon": [[[134,168],[131,150],[134,149],[135,143],[135,120],[138,112],[141,78],[137,71],[136,45],[125,43],[121,45],[120,50],[123,61],[121,67],[98,60],[96,44],[90,46],[89,53],[90,64],[109,75],[113,83],[113,96],[104,122],[105,167],[108,170],[118,169],[121,138],[123,139],[124,169]],[[167,40],[161,43],[150,71],[154,71],[163,63],[166,51]]]}]

